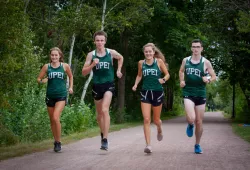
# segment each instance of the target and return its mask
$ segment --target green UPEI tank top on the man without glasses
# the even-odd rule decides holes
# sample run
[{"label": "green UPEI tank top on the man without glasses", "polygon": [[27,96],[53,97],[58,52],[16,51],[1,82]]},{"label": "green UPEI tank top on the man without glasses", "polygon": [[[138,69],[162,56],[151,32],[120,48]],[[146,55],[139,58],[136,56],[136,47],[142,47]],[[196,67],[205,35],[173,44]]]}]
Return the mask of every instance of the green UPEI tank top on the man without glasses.
[{"label": "green UPEI tank top on the man without glasses", "polygon": [[109,49],[105,49],[106,55],[103,57],[98,57],[96,55],[96,50],[93,51],[93,59],[98,58],[99,63],[93,68],[93,83],[103,84],[111,83],[114,81],[114,67],[112,62],[112,56]]}]

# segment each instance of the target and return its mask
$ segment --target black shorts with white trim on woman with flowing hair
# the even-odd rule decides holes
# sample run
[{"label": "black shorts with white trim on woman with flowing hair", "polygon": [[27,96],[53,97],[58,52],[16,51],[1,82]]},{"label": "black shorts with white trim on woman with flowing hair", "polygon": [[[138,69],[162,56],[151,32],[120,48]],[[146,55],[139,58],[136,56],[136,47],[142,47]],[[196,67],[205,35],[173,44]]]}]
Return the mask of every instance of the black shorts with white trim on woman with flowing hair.
[{"label": "black shorts with white trim on woman with flowing hair", "polygon": [[152,106],[160,106],[163,102],[163,91],[141,90],[141,102],[149,103]]}]

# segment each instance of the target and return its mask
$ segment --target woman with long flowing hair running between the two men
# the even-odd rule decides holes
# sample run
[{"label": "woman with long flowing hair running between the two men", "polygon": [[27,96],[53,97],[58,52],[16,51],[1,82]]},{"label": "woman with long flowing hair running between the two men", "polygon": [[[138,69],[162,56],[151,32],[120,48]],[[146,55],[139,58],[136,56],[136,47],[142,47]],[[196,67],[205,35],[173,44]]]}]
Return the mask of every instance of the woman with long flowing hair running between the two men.
[{"label": "woman with long flowing hair running between the two men", "polygon": [[[165,64],[165,57],[153,43],[144,45],[143,52],[145,59],[140,60],[138,63],[138,74],[132,90],[136,91],[137,85],[143,78],[141,90],[141,110],[144,119],[143,129],[146,140],[144,152],[151,153],[151,108],[153,109],[153,121],[157,126],[157,139],[158,141],[161,141],[163,139],[163,135],[160,116],[164,97],[162,84],[164,84],[170,76]],[[163,78],[161,78],[162,73],[164,74]]]}]

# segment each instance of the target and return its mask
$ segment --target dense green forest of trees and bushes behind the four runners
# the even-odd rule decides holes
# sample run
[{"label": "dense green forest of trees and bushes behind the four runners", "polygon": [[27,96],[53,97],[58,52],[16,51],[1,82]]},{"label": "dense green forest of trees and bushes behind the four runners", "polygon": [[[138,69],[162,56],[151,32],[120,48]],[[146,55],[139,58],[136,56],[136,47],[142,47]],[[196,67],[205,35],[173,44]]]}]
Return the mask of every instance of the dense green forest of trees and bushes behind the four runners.
[{"label": "dense green forest of trees and bushes behind the four runners", "polygon": [[[46,85],[36,78],[54,46],[62,49],[74,75],[74,94],[61,116],[63,135],[96,126],[91,82],[84,96],[88,76],[81,70],[94,49],[93,33],[101,29],[103,6],[104,0],[0,0],[0,146],[52,138]],[[250,0],[107,0],[106,47],[124,57],[112,123],[142,120],[139,92],[131,89],[148,42],[164,53],[171,75],[162,116],[183,113],[178,71],[196,38],[218,78],[207,87],[207,103],[249,123],[249,9]]]}]

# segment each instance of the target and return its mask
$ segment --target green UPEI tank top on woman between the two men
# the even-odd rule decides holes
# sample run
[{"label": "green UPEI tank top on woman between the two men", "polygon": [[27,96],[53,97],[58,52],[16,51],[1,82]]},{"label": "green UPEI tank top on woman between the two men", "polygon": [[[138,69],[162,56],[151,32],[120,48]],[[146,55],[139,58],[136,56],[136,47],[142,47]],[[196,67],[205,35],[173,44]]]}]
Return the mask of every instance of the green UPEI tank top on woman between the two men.
[{"label": "green UPEI tank top on woman between the two men", "polygon": [[163,91],[162,85],[158,79],[161,78],[161,71],[158,67],[157,60],[148,65],[144,60],[142,63],[143,90]]}]

